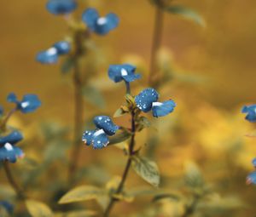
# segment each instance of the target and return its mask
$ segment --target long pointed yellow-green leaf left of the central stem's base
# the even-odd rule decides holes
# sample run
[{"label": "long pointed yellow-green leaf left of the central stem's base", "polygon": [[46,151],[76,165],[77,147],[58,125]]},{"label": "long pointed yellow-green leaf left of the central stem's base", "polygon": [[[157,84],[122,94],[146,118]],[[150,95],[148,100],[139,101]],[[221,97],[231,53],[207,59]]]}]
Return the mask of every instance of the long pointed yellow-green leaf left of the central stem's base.
[{"label": "long pointed yellow-green leaf left of the central stem's base", "polygon": [[85,200],[97,199],[101,197],[104,191],[96,186],[79,186],[68,191],[61,197],[59,203],[75,203]]}]

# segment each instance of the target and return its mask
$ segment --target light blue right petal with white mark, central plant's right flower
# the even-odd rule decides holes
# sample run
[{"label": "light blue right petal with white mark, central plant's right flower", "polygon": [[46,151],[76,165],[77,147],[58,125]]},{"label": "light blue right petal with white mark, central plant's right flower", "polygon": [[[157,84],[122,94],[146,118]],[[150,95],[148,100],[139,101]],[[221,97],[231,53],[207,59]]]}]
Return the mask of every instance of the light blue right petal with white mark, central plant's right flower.
[{"label": "light blue right petal with white mark, central plant's right flower", "polygon": [[152,104],[152,112],[154,117],[163,117],[171,113],[176,104],[173,100],[166,100],[164,102],[154,102]]}]

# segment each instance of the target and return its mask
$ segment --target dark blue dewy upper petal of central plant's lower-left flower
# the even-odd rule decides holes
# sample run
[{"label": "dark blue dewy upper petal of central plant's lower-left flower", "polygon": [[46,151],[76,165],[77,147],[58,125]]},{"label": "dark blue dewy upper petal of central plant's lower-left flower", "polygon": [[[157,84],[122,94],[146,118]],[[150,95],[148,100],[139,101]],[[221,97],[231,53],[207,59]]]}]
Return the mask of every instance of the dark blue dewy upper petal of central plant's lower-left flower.
[{"label": "dark blue dewy upper petal of central plant's lower-left flower", "polygon": [[93,121],[97,128],[102,128],[108,135],[113,135],[119,129],[108,116],[96,116]]}]

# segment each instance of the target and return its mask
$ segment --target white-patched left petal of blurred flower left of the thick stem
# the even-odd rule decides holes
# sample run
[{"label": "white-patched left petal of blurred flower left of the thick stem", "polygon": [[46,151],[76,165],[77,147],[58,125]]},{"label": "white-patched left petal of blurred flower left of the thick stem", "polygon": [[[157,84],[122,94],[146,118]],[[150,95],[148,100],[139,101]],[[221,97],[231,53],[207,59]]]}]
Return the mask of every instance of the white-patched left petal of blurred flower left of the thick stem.
[{"label": "white-patched left petal of blurred flower left of the thick stem", "polygon": [[53,64],[58,61],[58,51],[55,48],[50,48],[39,52],[36,60],[42,64]]}]

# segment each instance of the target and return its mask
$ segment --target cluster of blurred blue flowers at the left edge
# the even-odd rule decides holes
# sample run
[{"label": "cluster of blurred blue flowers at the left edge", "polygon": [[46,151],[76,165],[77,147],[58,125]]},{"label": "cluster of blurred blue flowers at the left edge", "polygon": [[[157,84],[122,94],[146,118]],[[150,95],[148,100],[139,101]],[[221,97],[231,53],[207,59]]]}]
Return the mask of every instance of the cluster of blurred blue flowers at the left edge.
[{"label": "cluster of blurred blue flowers at the left edge", "polygon": [[[7,100],[15,103],[15,109],[10,111],[9,114],[3,118],[1,126],[5,126],[8,118],[15,111],[21,111],[22,113],[29,113],[38,109],[41,106],[41,101],[35,94],[25,94],[22,100],[17,100],[14,93],[8,95]],[[2,106],[1,106],[2,107]],[[1,114],[3,115],[3,108]],[[2,125],[3,124],[3,125]],[[9,161],[15,163],[17,158],[23,157],[23,151],[15,146],[20,140],[23,140],[22,134],[19,131],[13,130],[9,134],[0,134],[0,161]]]}]

